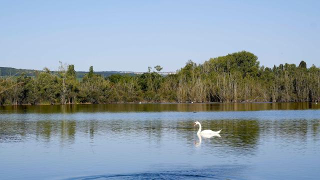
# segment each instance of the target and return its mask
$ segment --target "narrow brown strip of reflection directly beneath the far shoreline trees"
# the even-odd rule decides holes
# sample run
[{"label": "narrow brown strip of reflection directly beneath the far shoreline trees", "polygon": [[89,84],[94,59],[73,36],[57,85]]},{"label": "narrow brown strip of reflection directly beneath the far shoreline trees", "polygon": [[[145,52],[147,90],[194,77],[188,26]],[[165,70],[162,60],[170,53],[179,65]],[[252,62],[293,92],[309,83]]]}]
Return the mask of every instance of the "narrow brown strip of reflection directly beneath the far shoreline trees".
[{"label": "narrow brown strip of reflection directly beneath the far shoreline trees", "polygon": [[74,113],[74,112],[121,112],[121,111],[247,111],[319,109],[319,104],[308,102],[282,103],[168,103],[168,104],[62,104],[0,106],[0,112],[24,113]]}]

